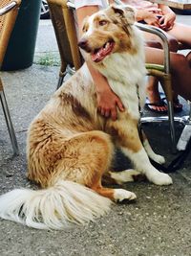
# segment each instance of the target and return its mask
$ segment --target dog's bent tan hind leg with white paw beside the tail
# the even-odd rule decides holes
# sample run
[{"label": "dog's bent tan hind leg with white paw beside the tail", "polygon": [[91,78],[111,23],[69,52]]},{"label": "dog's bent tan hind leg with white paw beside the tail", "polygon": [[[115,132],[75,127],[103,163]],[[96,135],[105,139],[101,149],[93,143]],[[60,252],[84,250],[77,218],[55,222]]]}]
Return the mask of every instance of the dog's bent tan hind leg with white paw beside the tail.
[{"label": "dog's bent tan hind leg with white paw beside the tail", "polygon": [[59,164],[62,168],[65,166],[59,173],[59,179],[83,184],[115,201],[136,198],[132,192],[101,185],[102,176],[108,172],[114,154],[114,145],[107,133],[98,130],[80,133],[66,144],[65,154],[68,157]]}]

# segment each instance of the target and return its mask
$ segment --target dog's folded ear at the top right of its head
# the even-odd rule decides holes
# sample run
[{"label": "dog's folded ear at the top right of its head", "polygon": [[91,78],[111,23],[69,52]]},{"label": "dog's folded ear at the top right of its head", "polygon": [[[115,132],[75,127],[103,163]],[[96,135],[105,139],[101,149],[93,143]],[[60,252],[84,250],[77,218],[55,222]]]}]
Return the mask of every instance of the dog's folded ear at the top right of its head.
[{"label": "dog's folded ear at the top right of its head", "polygon": [[124,5],[119,7],[111,5],[108,9],[108,13],[115,23],[121,23],[123,27],[128,27],[135,23],[135,9],[131,6]]}]

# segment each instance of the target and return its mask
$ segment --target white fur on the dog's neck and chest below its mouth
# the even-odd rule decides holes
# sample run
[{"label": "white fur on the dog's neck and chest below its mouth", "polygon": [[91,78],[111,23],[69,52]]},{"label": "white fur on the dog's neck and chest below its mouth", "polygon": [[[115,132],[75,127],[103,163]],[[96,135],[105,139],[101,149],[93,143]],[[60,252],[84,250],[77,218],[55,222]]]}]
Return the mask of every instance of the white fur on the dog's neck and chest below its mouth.
[{"label": "white fur on the dog's neck and chest below its mouth", "polygon": [[132,56],[128,53],[117,53],[106,58],[104,66],[106,68],[99,69],[100,72],[107,78],[128,112],[138,119],[138,105],[142,106],[145,100],[144,58],[139,54]]}]

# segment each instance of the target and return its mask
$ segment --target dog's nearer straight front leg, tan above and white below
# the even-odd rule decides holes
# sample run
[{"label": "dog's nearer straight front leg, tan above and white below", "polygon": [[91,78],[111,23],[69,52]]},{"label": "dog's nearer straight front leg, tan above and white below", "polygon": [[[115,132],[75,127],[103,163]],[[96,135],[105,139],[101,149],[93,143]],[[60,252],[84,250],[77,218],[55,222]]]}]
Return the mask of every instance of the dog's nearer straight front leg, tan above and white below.
[{"label": "dog's nearer straight front leg, tan above and white below", "polygon": [[138,135],[137,121],[117,120],[110,122],[108,132],[113,136],[115,143],[121,151],[133,162],[135,169],[157,185],[172,184],[169,175],[160,173],[149,161]]}]

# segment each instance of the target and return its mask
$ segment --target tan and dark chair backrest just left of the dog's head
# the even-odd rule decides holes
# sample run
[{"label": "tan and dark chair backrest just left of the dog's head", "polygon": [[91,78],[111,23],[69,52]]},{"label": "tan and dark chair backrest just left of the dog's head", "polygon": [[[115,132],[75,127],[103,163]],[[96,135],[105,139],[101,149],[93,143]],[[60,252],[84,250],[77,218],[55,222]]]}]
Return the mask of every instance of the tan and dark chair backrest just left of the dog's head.
[{"label": "tan and dark chair backrest just left of the dog's head", "polygon": [[61,58],[61,67],[57,88],[62,84],[67,73],[74,74],[83,63],[77,47],[73,10],[67,0],[47,0],[53,29]]}]

